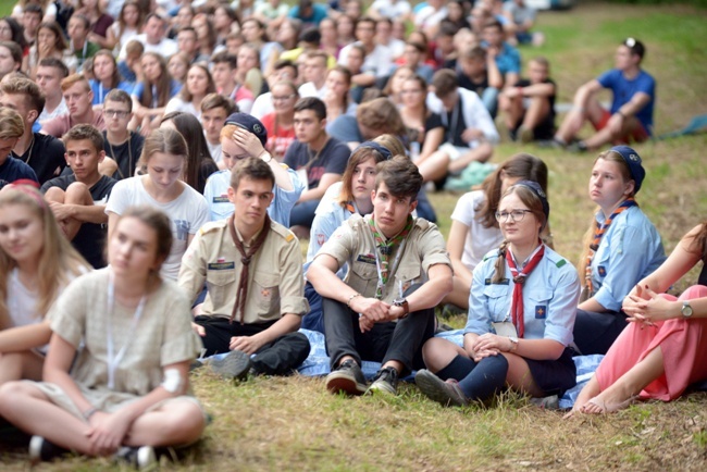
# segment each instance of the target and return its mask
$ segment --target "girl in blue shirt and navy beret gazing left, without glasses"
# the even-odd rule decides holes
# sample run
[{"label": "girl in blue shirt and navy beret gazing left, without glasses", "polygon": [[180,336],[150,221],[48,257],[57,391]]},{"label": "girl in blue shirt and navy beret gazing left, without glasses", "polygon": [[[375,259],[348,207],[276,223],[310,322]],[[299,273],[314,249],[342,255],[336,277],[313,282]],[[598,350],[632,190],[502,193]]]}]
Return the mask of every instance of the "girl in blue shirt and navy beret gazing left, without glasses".
[{"label": "girl in blue shirt and navy beret gazing left, without glasses", "polygon": [[583,355],[607,352],[628,325],[623,299],[666,260],[660,235],[635,199],[645,175],[641,157],[628,146],[615,146],[594,162],[588,190],[599,208],[580,259],[583,290],[574,325]]}]

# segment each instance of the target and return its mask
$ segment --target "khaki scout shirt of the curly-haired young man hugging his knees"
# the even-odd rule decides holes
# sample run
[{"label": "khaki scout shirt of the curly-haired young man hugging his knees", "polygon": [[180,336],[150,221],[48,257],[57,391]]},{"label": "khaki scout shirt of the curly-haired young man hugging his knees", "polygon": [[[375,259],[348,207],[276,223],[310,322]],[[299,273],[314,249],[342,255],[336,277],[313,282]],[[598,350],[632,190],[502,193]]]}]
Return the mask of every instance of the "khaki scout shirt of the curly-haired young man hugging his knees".
[{"label": "khaki scout shirt of the curly-haired young man hugging his knees", "polygon": [[[381,253],[376,254],[377,248],[369,227],[370,219],[371,215],[358,214],[349,218],[322,246],[317,257],[328,254],[336,259],[339,268],[348,263],[349,271],[344,282],[364,297],[373,298],[379,283],[375,258],[377,256],[380,260]],[[400,245],[388,256],[390,271],[394,270],[399,250]],[[397,270],[388,276],[382,300],[393,302],[410,285],[425,283],[427,271],[434,264],[451,268],[444,237],[435,224],[418,218],[408,235]]]}]

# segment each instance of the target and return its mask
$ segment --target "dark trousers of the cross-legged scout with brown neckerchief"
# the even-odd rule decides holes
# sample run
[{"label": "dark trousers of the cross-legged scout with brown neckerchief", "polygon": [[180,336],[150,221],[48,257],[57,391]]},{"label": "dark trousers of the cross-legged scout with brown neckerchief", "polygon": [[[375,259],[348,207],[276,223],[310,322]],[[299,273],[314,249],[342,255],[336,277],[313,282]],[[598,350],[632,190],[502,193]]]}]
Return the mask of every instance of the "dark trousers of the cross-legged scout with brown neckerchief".
[{"label": "dark trousers of the cross-legged scout with brown neckerchief", "polygon": [[[231,323],[224,318],[197,316],[194,322],[206,330],[201,338],[207,356],[228,352],[233,336],[252,336],[268,330],[275,322],[262,324]],[[309,356],[309,340],[301,333],[287,333],[258,349],[252,358],[253,369],[265,375],[287,375]]]}]

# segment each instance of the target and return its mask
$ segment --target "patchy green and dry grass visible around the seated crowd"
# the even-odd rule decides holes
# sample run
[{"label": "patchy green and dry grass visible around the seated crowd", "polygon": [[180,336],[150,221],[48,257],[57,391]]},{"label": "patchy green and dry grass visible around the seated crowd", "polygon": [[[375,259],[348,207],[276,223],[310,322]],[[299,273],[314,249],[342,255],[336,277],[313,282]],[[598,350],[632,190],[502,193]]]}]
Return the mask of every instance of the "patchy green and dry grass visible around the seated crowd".
[{"label": "patchy green and dry grass visible around the seated crowd", "polygon": [[[611,66],[617,44],[627,36],[648,48],[645,67],[658,80],[656,131],[684,125],[707,110],[707,12],[685,5],[630,7],[582,2],[570,12],[543,13],[539,28],[548,44],[523,50],[554,64],[562,101],[587,78]],[[707,135],[638,146],[647,178],[638,202],[659,228],[667,250],[707,214]],[[592,156],[522,149],[504,144],[495,162],[521,150],[550,169],[550,222],[559,253],[576,262],[593,213],[586,197]],[[432,201],[443,233],[458,195]],[[678,289],[696,281],[691,273]],[[463,323],[461,318],[452,324]],[[208,372],[193,374],[196,395],[213,422],[203,440],[175,470],[684,470],[707,463],[707,395],[633,406],[610,418],[562,421],[508,394],[493,409],[444,409],[402,385],[397,398],[343,398],[323,380],[293,376],[255,378],[240,385]],[[0,448],[2,470],[25,470],[24,447]],[[111,469],[103,459],[72,458],[44,470]]]}]

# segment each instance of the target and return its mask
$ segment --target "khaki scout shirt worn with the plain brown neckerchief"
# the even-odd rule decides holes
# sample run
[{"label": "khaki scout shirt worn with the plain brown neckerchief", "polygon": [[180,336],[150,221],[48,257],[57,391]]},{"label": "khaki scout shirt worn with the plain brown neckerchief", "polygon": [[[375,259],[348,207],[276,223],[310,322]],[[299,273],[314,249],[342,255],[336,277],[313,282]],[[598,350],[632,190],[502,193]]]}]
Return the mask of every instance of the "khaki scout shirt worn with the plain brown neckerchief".
[{"label": "khaki scout shirt worn with the plain brown neckerchief", "polygon": [[[228,221],[207,223],[182,259],[178,284],[194,300],[206,281],[208,294],[202,314],[231,318],[241,268]],[[250,261],[248,272],[244,323],[264,323],[286,313],[302,315],[309,311],[303,297],[302,253],[289,229],[271,221],[270,234]]]}]

